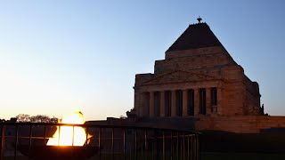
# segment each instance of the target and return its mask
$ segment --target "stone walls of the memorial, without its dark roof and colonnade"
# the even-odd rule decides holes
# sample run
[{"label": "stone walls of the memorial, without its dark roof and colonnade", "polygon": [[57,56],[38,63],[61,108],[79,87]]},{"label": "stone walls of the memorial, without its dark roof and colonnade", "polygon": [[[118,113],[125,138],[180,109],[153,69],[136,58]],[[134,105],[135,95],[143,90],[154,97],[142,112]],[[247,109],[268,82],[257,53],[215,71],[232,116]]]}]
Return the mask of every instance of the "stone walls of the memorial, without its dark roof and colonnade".
[{"label": "stone walls of the memorial, without its dark roof and colonnade", "polygon": [[[217,115],[255,116],[260,114],[258,84],[251,82],[245,76],[243,68],[232,60],[231,55],[222,46],[166,52],[165,60],[155,61],[154,74],[135,76],[134,108],[139,116],[148,115],[142,113],[145,110],[143,109],[145,99],[142,98],[142,94],[145,92],[205,88],[207,89],[207,115],[216,115],[216,112],[211,111],[210,100],[210,89],[214,87],[221,94],[217,95],[219,97],[216,106]],[[195,93],[195,98],[199,96],[198,93]],[[150,107],[153,106],[151,100],[149,100]],[[199,99],[197,102],[199,103]],[[195,106],[197,111],[199,104],[195,102]],[[199,115],[196,111],[195,116]]]}]

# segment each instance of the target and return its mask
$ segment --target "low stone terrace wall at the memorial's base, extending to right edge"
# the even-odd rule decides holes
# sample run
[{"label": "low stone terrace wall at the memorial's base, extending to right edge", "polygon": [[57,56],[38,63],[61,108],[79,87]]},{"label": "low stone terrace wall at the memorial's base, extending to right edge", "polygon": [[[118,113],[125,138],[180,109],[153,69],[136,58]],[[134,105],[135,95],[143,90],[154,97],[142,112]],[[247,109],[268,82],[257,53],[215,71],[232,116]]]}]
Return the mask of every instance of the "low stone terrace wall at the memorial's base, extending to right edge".
[{"label": "low stone terrace wall at the memorial's base, extending to right edge", "polygon": [[273,127],[285,127],[285,116],[200,116],[195,123],[197,131],[258,133]]}]

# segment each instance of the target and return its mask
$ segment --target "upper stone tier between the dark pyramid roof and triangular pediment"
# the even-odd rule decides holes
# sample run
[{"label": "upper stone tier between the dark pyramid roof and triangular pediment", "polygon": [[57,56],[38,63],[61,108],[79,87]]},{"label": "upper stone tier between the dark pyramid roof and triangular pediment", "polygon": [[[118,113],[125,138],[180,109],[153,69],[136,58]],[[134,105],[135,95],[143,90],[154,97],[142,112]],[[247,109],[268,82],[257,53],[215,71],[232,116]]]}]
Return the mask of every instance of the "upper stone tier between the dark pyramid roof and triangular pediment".
[{"label": "upper stone tier between the dark pyramid roof and triangular pediment", "polygon": [[236,65],[232,57],[222,47],[167,52],[166,54],[166,60],[155,61],[154,74],[173,70],[221,68],[225,65]]}]

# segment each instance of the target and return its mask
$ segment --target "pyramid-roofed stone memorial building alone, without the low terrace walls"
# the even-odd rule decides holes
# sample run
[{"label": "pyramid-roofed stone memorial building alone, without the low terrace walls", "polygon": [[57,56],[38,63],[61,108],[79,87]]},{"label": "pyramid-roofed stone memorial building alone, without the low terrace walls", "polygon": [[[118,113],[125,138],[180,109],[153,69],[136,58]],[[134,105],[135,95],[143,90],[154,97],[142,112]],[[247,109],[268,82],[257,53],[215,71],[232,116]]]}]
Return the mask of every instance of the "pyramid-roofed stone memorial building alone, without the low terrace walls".
[{"label": "pyramid-roofed stone memorial building alone, without the low terrace walls", "polygon": [[207,23],[191,24],[156,60],[154,73],[138,74],[134,110],[139,117],[258,116],[259,86],[244,74]]}]

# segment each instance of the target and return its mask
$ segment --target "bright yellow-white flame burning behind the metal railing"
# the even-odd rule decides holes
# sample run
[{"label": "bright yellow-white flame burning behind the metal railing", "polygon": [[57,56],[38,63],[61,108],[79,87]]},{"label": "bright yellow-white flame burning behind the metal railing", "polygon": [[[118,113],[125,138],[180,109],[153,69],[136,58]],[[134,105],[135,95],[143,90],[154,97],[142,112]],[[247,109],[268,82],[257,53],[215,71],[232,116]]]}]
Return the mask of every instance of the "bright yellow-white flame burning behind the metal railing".
[{"label": "bright yellow-white flame burning behind the metal railing", "polygon": [[[63,116],[60,124],[84,124],[85,119],[81,112],[75,112],[69,116]],[[74,134],[74,135],[73,135]],[[57,126],[53,138],[49,138],[47,146],[83,146],[86,138],[91,138],[91,135],[85,133],[85,129],[78,126]],[[88,142],[88,141],[87,141]]]}]

